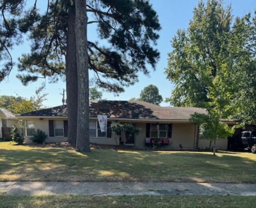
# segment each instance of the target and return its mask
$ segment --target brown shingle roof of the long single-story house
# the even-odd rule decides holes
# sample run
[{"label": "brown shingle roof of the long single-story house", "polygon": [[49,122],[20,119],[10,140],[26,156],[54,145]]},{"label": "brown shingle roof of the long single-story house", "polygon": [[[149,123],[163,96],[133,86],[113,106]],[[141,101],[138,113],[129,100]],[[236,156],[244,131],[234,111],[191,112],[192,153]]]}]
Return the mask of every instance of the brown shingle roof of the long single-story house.
[{"label": "brown shingle roof of the long single-story house", "polygon": [[[144,101],[108,101],[91,100],[90,117],[97,115],[108,115],[113,119],[164,119],[164,120],[189,120],[193,113],[206,113],[206,110],[193,107],[160,107]],[[66,105],[42,109],[24,113],[20,116],[39,117],[67,117]]]}]

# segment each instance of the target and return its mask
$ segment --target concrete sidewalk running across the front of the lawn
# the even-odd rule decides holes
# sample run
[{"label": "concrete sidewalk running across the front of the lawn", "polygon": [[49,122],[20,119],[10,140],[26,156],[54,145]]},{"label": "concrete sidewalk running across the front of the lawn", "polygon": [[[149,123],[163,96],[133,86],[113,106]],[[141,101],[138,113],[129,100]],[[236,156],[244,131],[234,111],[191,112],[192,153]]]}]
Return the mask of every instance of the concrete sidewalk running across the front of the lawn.
[{"label": "concrete sidewalk running across the front of the lawn", "polygon": [[256,184],[136,182],[0,182],[0,194],[256,195]]}]

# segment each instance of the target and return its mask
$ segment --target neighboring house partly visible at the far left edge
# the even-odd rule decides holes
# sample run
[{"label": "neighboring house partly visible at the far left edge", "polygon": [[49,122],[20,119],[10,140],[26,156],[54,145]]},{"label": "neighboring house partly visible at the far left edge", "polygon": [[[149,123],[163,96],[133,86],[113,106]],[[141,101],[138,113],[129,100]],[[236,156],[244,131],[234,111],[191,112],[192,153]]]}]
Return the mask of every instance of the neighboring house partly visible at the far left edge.
[{"label": "neighboring house partly visible at the far left edge", "polygon": [[11,139],[10,131],[13,125],[20,128],[19,119],[6,109],[0,108],[0,138]]}]

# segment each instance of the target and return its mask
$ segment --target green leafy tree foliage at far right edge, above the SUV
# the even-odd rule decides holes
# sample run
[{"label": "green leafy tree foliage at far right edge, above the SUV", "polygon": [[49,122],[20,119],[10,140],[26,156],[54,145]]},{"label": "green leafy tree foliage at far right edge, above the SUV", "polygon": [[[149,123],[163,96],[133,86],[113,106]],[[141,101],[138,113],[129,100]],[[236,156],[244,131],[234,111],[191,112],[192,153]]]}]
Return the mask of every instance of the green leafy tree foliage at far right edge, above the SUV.
[{"label": "green leafy tree foliage at far right edge, above the SUV", "polygon": [[230,51],[234,57],[236,92],[235,119],[243,125],[256,123],[256,11],[236,18]]}]

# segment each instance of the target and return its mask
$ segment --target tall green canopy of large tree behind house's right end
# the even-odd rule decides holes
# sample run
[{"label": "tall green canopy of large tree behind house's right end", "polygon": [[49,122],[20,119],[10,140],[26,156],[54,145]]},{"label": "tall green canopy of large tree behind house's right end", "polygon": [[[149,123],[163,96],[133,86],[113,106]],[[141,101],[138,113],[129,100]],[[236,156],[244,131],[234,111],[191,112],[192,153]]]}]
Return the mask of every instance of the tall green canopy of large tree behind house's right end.
[{"label": "tall green canopy of large tree behind house's right end", "polygon": [[230,6],[224,9],[217,0],[208,0],[206,5],[200,1],[188,29],[178,30],[165,71],[176,85],[168,99],[172,105],[201,107],[211,100],[211,93],[232,91],[227,85],[232,75],[231,22]]}]

